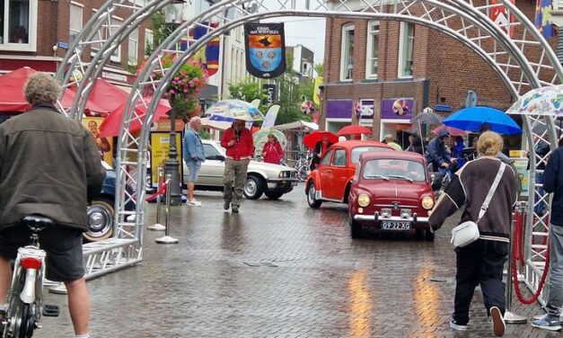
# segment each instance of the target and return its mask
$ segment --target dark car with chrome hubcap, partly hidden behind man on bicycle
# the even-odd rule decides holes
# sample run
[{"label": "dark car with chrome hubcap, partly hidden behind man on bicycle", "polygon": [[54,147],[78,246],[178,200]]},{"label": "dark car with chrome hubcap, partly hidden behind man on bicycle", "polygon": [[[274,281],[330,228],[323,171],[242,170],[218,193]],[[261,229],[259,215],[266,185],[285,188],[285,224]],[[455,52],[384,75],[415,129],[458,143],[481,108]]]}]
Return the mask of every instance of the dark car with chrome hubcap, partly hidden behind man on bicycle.
[{"label": "dark car with chrome hubcap, partly hidden behind man on bicycle", "polygon": [[[88,214],[88,231],[84,233],[84,238],[88,242],[98,242],[113,235],[116,173],[111,165],[103,161],[101,165],[106,169],[106,178],[103,180],[100,195],[95,200],[92,200],[92,203],[86,210]],[[127,186],[126,190],[132,196],[133,189]],[[125,205],[125,209],[128,211],[135,210],[135,202],[129,200]]]}]

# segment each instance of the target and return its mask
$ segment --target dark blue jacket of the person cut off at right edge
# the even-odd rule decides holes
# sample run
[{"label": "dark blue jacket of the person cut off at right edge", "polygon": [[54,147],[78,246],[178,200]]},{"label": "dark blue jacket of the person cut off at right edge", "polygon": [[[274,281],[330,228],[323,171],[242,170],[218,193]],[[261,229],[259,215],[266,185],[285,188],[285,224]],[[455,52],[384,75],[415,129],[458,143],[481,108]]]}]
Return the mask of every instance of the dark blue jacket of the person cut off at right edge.
[{"label": "dark blue jacket of the person cut off at right edge", "polygon": [[551,152],[543,172],[543,190],[553,193],[550,222],[563,227],[563,147]]}]

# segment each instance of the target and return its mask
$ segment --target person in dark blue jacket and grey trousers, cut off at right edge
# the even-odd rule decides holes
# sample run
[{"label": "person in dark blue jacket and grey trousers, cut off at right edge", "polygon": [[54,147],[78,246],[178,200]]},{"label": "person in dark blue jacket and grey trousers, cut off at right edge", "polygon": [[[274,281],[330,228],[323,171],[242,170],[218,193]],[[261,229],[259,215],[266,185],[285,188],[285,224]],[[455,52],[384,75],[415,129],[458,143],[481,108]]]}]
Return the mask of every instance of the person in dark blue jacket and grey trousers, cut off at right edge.
[{"label": "person in dark blue jacket and grey trousers, cut off at right edge", "polygon": [[543,172],[543,190],[553,193],[550,215],[550,286],[546,305],[547,315],[536,319],[532,326],[559,331],[563,306],[563,147],[554,150]]}]

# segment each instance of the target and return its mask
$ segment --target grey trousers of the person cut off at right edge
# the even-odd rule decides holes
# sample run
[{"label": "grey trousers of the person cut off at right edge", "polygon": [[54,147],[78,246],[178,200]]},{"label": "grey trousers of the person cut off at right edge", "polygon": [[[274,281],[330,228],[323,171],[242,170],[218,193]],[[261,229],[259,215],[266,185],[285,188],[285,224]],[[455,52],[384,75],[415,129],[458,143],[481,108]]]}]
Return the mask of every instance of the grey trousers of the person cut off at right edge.
[{"label": "grey trousers of the person cut off at right edge", "polygon": [[559,320],[563,306],[563,227],[550,224],[550,291],[546,309],[551,320]]}]

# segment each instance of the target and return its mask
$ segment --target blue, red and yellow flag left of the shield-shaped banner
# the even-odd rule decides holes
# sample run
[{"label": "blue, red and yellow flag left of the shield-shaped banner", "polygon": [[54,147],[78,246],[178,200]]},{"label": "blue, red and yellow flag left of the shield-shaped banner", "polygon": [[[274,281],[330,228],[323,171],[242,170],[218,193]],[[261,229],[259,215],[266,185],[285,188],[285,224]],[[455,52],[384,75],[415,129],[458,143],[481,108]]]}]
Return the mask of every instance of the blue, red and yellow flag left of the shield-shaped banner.
[{"label": "blue, red and yellow flag left of the shield-shaped banner", "polygon": [[[189,30],[188,39],[180,40],[180,49],[186,50],[188,46],[195,43],[196,40],[206,35],[211,29],[219,27],[218,22],[202,22],[198,27]],[[219,70],[219,49],[221,46],[221,39],[217,36],[213,40],[207,42],[205,47],[198,49],[193,58],[200,62],[206,69],[207,75],[213,76]]]}]

